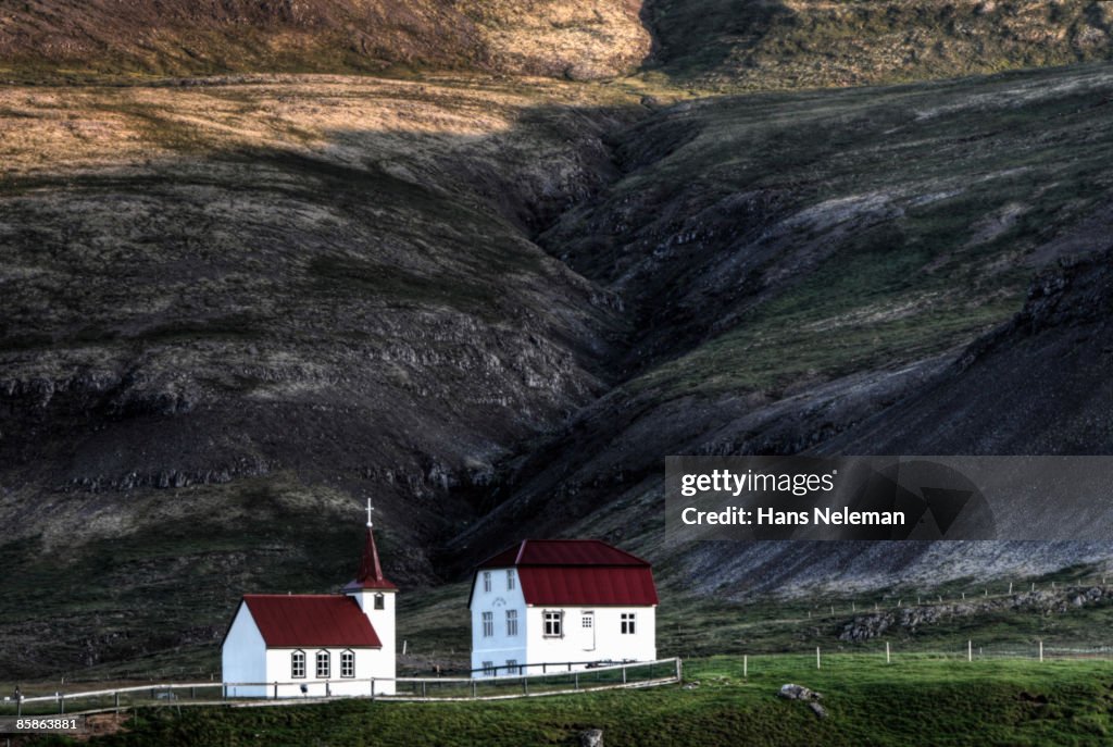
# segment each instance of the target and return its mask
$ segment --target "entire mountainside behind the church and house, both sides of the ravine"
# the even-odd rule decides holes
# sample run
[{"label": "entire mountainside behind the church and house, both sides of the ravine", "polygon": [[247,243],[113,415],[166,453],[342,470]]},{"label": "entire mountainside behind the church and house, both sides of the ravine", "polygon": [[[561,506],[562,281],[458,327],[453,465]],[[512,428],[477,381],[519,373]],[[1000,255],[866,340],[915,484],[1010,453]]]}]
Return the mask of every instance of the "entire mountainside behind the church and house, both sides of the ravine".
[{"label": "entire mountainside behind the church and house, both sides of the ravine", "polygon": [[1113,445],[1107,4],[0,2],[0,671],[195,664],[367,495],[450,649],[522,535],[693,606],[1106,566],[660,509],[670,453]]}]

